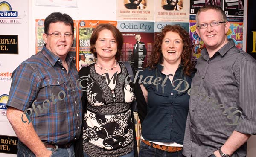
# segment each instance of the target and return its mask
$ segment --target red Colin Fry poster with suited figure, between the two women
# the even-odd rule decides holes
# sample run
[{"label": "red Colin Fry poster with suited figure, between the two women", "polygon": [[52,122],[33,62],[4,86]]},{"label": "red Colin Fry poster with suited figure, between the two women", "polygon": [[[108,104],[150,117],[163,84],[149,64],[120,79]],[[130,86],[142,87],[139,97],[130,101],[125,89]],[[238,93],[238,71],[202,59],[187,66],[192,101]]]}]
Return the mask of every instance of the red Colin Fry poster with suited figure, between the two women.
[{"label": "red Colin Fry poster with suited figure, between the two women", "polygon": [[124,37],[120,61],[128,61],[134,70],[145,68],[154,42],[154,22],[118,21]]}]

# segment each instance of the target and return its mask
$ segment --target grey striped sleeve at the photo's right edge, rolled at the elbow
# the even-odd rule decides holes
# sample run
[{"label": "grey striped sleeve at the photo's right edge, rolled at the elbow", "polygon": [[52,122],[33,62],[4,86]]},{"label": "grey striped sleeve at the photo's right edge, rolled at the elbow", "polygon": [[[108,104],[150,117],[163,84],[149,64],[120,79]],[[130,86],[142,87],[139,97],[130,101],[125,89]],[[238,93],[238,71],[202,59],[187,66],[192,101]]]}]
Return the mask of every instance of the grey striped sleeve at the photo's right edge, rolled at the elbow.
[{"label": "grey striped sleeve at the photo's right edge, rolled at the elbow", "polygon": [[256,62],[245,60],[235,71],[239,85],[238,108],[241,110],[236,131],[244,134],[256,134]]}]

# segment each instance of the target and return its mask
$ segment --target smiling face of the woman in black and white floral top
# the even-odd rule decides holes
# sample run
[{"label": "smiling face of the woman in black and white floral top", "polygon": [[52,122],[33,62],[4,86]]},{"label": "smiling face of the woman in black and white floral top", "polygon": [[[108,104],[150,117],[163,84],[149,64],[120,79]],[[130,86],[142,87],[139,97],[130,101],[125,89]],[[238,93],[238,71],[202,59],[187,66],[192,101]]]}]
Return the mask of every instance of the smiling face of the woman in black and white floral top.
[{"label": "smiling face of the woman in black and white floral top", "polygon": [[95,43],[97,58],[111,60],[115,58],[117,52],[116,39],[110,30],[104,29],[99,32],[98,39]]}]

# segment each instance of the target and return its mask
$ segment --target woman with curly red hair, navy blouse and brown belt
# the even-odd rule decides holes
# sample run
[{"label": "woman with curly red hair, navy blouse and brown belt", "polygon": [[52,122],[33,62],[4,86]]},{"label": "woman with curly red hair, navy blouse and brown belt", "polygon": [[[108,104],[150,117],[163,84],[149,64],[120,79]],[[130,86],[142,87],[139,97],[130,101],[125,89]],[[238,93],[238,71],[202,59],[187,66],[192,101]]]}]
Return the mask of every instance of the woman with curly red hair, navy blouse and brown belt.
[{"label": "woman with curly red hair, navy blouse and brown belt", "polygon": [[[189,110],[192,44],[178,25],[167,25],[157,36],[140,84],[148,112],[142,123],[139,157],[183,157]],[[139,110],[140,111],[140,110]]]}]

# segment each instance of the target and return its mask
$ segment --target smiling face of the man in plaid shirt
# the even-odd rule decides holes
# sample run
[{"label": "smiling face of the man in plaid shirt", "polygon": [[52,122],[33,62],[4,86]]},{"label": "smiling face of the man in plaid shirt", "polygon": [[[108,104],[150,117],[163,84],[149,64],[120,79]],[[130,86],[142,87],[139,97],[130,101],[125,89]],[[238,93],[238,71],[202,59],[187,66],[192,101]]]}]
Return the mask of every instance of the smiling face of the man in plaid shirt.
[{"label": "smiling face of the man in plaid shirt", "polygon": [[[64,22],[56,22],[49,25],[48,33],[72,34],[72,29],[70,25],[66,25]],[[54,37],[53,35],[44,34],[43,38],[46,48],[61,58],[62,61],[65,60],[72,46],[74,36],[64,37],[64,35],[61,35],[61,37]]]}]

